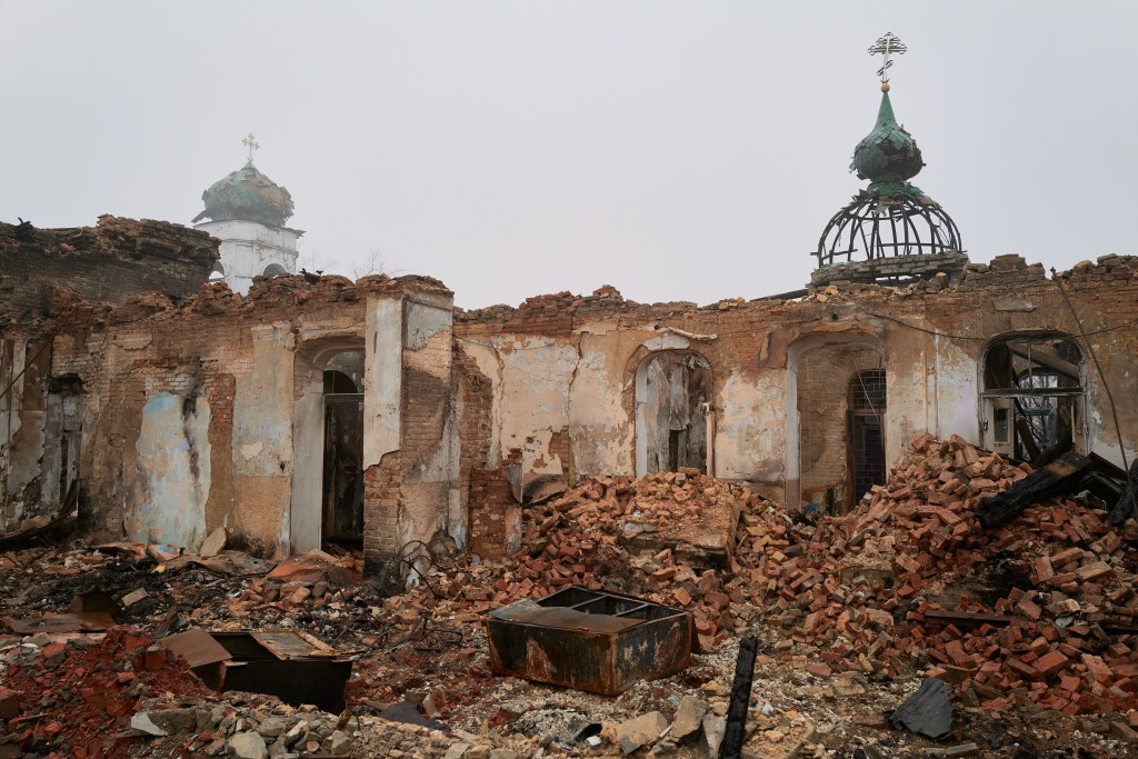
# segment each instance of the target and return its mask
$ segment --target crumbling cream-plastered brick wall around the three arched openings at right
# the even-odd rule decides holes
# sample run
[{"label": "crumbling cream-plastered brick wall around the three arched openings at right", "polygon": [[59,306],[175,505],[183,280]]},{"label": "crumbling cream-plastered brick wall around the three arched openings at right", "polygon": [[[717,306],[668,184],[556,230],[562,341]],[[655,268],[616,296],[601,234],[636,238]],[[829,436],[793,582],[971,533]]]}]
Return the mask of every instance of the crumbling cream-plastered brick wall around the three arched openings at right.
[{"label": "crumbling cream-plastered brick wall around the three arched openings at right", "polygon": [[[1105,256],[1061,280],[1092,332],[1115,398],[1132,397],[1138,393],[1136,259]],[[787,383],[786,369],[802,346],[855,340],[881,347],[890,382],[887,455],[894,461],[925,431],[982,439],[979,362],[998,336],[1054,332],[1085,343],[1056,283],[1020,256],[971,264],[958,283],[835,281],[798,300],[699,307],[635,304],[611,288],[585,297],[558,294],[530,298],[517,310],[460,313],[455,332],[462,352],[494,386],[492,457],[501,461],[521,446],[525,467],[561,461],[567,431],[570,465],[580,475],[634,473],[636,368],[654,352],[693,350],[714,374],[715,473],[795,503],[803,495],[802,471],[799,451],[787,449],[787,442],[795,446],[802,431],[800,396]],[[1092,368],[1088,378],[1088,447],[1118,460],[1103,381]],[[839,436],[844,419],[836,399],[844,399],[848,379],[833,388],[830,423]],[[1133,455],[1138,412],[1125,406],[1119,410],[1123,443]],[[814,427],[807,420],[806,434]],[[811,455],[807,449],[808,461]],[[838,469],[836,459],[824,463]]]}]

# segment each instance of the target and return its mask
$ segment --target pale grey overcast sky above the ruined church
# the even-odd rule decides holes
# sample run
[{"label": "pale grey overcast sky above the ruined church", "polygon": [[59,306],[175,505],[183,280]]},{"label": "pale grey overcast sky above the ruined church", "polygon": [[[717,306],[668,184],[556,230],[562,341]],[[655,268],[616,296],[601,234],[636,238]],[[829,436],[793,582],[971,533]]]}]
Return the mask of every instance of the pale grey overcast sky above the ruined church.
[{"label": "pale grey overcast sky above the ruined church", "polygon": [[302,264],[456,303],[801,287],[892,31],[913,181],[973,261],[1135,254],[1138,3],[0,0],[0,220],[189,223],[256,165]]}]

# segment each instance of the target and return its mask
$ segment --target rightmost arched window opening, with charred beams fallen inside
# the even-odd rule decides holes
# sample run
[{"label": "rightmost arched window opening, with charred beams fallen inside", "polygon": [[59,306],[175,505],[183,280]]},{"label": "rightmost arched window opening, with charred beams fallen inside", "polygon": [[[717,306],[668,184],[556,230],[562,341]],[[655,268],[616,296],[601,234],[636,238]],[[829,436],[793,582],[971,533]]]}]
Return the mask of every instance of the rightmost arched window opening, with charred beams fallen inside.
[{"label": "rightmost arched window opening, with charred beams fallen inside", "polygon": [[1083,447],[1082,350],[1067,336],[996,340],[983,360],[984,445],[1040,467]]}]

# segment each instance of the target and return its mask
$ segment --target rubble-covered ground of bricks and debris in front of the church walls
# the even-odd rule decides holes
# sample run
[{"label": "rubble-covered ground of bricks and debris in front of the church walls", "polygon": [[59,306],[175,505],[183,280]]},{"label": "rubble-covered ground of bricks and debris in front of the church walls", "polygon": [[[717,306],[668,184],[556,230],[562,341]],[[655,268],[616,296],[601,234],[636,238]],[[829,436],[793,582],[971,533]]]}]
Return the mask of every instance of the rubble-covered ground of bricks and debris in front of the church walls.
[{"label": "rubble-covered ground of bricks and debris in front of the church walls", "polygon": [[[982,500],[1030,471],[924,436],[816,519],[694,470],[600,477],[526,508],[508,559],[411,546],[396,593],[351,552],[42,535],[0,554],[0,757],[715,756],[744,635],[743,756],[1138,756],[1138,523],[1081,495],[983,529]],[[692,665],[618,696],[495,676],[487,612],[572,584],[691,611]],[[162,646],[195,627],[356,657],[347,708],[206,688]],[[930,677],[953,692],[940,741],[887,719]]]}]

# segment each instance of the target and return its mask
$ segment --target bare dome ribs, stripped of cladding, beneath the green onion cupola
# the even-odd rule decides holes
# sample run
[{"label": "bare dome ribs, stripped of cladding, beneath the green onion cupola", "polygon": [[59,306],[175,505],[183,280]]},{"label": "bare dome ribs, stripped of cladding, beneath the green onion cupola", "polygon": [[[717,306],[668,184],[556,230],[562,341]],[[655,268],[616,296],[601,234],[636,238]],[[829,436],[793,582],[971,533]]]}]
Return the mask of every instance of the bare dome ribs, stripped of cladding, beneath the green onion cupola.
[{"label": "bare dome ribs, stripped of cladding, beneath the green onion cupola", "polygon": [[834,214],[818,240],[818,266],[858,258],[963,253],[960,231],[940,204],[925,196],[882,197],[863,190]]}]

